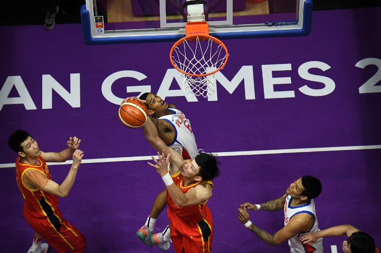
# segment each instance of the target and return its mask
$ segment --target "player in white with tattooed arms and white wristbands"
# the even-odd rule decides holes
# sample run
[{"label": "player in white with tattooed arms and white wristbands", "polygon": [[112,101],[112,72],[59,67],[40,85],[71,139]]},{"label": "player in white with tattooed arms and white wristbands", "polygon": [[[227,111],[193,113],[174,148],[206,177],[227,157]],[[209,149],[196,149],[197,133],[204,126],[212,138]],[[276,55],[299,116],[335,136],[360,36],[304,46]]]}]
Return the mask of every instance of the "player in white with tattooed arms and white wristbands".
[{"label": "player in white with tattooed arms and white wristbands", "polygon": [[[238,208],[238,218],[242,224],[249,228],[259,239],[268,245],[279,245],[286,240],[291,253],[322,253],[322,240],[313,246],[302,244],[299,237],[303,233],[318,231],[315,202],[313,199],[321,192],[320,181],[312,176],[303,176],[291,183],[286,193],[279,199],[261,204],[246,202]],[[284,210],[284,227],[274,235],[258,228],[250,220],[249,210],[276,211]]]}]

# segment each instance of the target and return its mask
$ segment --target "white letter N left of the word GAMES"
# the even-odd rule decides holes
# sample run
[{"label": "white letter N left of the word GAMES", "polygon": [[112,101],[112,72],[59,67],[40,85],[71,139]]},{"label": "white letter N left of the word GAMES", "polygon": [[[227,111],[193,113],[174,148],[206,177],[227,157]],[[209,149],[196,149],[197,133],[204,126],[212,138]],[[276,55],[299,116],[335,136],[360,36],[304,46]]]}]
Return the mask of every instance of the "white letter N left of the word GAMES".
[{"label": "white letter N left of the word GAMES", "polygon": [[70,74],[70,92],[51,75],[42,75],[42,108],[53,108],[53,90],[73,108],[81,107],[79,73]]}]

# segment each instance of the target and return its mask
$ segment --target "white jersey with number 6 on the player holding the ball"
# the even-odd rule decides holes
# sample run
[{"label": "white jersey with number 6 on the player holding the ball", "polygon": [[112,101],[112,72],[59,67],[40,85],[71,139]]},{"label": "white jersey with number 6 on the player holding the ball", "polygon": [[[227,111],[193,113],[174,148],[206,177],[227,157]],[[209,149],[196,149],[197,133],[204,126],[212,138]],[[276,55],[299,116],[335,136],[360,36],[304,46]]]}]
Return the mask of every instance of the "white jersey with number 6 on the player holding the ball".
[{"label": "white jersey with number 6 on the player holding the ball", "polygon": [[173,114],[165,115],[159,119],[168,121],[175,129],[175,139],[168,147],[181,153],[185,159],[191,159],[198,154],[196,140],[191,129],[191,122],[184,113],[178,109],[168,108]]}]

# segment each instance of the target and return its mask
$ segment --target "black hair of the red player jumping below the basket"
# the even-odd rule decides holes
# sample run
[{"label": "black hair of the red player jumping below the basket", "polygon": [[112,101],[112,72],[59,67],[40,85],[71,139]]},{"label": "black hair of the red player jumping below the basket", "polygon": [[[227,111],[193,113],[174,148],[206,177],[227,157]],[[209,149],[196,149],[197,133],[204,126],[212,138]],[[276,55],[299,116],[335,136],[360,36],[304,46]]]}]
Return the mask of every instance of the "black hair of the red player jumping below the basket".
[{"label": "black hair of the red player jumping below the basket", "polygon": [[213,180],[220,175],[220,170],[217,166],[220,162],[217,161],[216,155],[200,152],[194,157],[194,160],[200,166],[197,176],[200,176],[202,180]]}]

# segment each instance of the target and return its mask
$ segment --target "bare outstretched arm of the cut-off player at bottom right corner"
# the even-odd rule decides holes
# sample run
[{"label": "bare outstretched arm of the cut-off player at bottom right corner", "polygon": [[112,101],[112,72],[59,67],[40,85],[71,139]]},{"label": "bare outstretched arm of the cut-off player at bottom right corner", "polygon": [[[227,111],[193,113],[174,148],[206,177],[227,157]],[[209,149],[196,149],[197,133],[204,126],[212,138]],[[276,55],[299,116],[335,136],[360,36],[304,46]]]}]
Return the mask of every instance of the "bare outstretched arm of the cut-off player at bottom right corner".
[{"label": "bare outstretched arm of the cut-off player at bottom right corner", "polygon": [[300,241],[304,244],[313,245],[319,238],[327,236],[348,236],[350,237],[353,233],[358,232],[357,228],[352,225],[339,225],[335,227],[330,227],[324,230],[319,230],[317,232],[309,232],[303,234],[300,237]]}]

